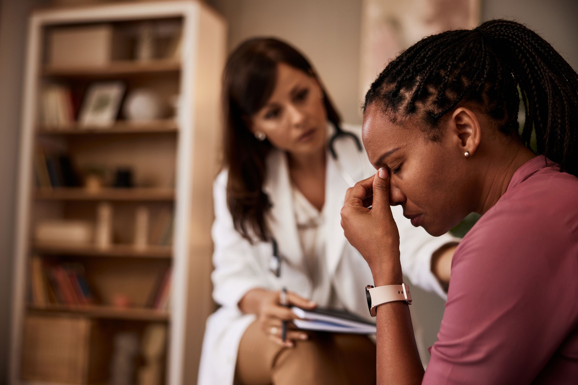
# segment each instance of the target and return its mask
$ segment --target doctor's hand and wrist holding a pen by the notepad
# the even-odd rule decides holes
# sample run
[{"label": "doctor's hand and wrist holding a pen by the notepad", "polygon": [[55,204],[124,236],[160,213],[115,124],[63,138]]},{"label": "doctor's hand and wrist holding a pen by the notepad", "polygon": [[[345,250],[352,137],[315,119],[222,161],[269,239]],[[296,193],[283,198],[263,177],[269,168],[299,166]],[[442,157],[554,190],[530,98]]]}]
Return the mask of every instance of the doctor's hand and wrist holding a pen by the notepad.
[{"label": "doctor's hand and wrist holding a pen by the notepad", "polygon": [[[314,309],[317,304],[291,291],[287,291],[287,306]],[[295,328],[291,321],[299,317],[287,306],[281,305],[281,293],[279,291],[265,289],[249,290],[239,302],[241,311],[258,316],[261,330],[268,335],[271,341],[283,347],[293,347],[295,340],[305,341],[309,338],[309,335],[305,331]],[[281,335],[283,321],[288,322],[286,342],[283,342]]]}]

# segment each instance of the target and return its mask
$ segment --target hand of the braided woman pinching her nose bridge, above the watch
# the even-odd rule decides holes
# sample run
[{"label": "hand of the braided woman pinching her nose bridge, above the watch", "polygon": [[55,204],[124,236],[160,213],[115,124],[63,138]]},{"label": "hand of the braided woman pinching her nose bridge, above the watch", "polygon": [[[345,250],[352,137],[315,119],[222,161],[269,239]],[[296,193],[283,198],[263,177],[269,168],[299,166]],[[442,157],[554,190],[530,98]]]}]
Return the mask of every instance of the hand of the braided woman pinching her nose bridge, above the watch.
[{"label": "hand of the braided woman pinching her nose bridge, above the watch", "polygon": [[387,169],[377,170],[347,190],[341,226],[347,240],[368,263],[375,286],[402,283],[399,231],[391,213]]}]

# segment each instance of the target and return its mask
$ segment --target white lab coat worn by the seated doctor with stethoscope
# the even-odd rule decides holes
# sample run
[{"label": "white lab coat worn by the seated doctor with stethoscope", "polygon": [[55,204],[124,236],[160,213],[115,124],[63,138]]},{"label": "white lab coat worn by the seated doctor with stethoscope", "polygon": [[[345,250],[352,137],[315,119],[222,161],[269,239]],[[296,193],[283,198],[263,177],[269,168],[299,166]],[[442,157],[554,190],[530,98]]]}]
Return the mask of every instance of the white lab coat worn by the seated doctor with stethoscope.
[{"label": "white lab coat worn by the seated doctor with stethoscope", "polygon": [[[343,128],[361,137],[360,126],[344,125]],[[375,173],[365,152],[360,154],[360,160],[353,140],[339,139],[335,147],[338,162],[355,181]],[[348,311],[372,320],[364,288],[373,284],[373,278],[363,257],[343,235],[340,210],[349,185],[335,162],[328,152],[324,208],[328,274],[340,304]],[[233,383],[240,339],[249,324],[255,320],[254,315],[244,315],[238,308],[238,302],[247,291],[257,287],[268,290],[287,287],[305,298],[309,298],[312,293],[312,285],[305,274],[307,269],[295,224],[286,154],[272,151],[266,160],[266,167],[263,189],[273,205],[266,220],[279,245],[281,276],[277,278],[269,270],[271,243],[254,242],[251,245],[235,230],[227,207],[227,171],[222,171],[214,182],[215,221],[212,230],[215,267],[212,274],[213,298],[221,308],[209,317],[206,324],[198,385]],[[429,236],[424,229],[413,227],[410,221],[403,217],[401,206],[394,206],[391,210],[399,228],[404,274],[414,285],[444,296],[442,288],[430,271],[430,259],[434,251],[455,238],[449,235],[437,238]]]}]

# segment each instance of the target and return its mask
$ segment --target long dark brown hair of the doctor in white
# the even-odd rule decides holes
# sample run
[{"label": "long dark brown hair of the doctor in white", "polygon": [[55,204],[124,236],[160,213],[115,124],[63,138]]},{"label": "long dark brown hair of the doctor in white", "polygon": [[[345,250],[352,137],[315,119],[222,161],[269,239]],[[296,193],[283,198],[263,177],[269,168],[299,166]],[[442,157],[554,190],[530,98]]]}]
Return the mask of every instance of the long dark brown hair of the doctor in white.
[{"label": "long dark brown hair of the doctor in white", "polygon": [[240,44],[229,56],[223,76],[225,114],[223,167],[228,169],[227,205],[235,229],[249,241],[266,241],[265,214],[271,201],[263,191],[266,156],[273,148],[258,141],[249,125],[267,100],[277,80],[277,64],[285,63],[317,80],[323,91],[327,118],[336,127],[341,118],[309,61],[295,48],[272,38],[254,38]]}]

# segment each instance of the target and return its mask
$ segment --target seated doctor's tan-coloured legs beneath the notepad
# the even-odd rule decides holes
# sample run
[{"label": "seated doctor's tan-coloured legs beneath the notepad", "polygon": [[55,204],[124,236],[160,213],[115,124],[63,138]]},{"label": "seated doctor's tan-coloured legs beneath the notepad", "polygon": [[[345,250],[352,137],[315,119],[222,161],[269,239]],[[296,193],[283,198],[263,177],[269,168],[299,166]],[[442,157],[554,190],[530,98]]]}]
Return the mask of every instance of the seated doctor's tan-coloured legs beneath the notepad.
[{"label": "seated doctor's tan-coloured legs beneath the notepad", "polygon": [[375,344],[365,335],[312,333],[284,348],[255,322],[239,345],[236,381],[242,385],[375,384]]}]

